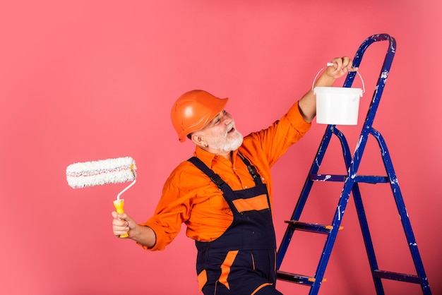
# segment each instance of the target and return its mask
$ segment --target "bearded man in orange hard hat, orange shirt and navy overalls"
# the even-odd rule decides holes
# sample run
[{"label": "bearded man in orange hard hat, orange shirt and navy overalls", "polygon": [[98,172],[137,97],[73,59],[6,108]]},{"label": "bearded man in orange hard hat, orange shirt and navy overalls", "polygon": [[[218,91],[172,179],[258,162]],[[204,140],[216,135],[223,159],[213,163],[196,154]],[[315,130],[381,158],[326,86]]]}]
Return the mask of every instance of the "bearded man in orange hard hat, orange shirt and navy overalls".
[{"label": "bearded man in orange hard hat, orange shirt and navy overalls", "polygon": [[[316,86],[331,86],[349,71],[356,69],[348,57],[333,59]],[[163,250],[184,222],[196,241],[203,294],[281,294],[275,289],[270,167],[309,131],[316,99],[309,90],[272,126],[244,138],[225,111],[227,100],[203,90],[179,97],[172,123],[181,142],[189,138],[196,145],[195,153],[172,171],[147,222],[112,212],[114,234]]]}]

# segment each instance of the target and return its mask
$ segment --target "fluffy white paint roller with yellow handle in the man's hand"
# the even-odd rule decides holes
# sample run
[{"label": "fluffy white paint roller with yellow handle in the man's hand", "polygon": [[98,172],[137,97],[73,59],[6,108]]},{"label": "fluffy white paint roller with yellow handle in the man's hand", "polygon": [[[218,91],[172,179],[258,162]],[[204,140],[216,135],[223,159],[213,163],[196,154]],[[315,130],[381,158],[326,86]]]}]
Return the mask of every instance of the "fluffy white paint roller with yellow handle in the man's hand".
[{"label": "fluffy white paint roller with yellow handle in the man's hand", "polygon": [[[114,200],[114,207],[117,213],[121,214],[124,213],[124,199],[120,199],[120,196],[136,183],[136,165],[131,157],[78,162],[70,164],[66,168],[66,180],[71,188],[132,181],[117,195],[117,200]],[[126,238],[127,236],[128,234],[124,234],[120,238]]]}]

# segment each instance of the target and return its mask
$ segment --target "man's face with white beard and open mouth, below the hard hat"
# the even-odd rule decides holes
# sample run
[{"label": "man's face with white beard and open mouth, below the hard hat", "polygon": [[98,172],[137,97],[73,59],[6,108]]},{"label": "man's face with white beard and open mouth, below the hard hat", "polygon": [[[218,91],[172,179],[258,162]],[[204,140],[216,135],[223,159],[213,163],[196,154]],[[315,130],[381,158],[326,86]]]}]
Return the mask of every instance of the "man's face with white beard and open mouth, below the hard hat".
[{"label": "man's face with white beard and open mouth, below the hard hat", "polygon": [[217,114],[200,133],[208,144],[208,148],[224,152],[236,150],[243,140],[243,136],[235,128],[232,115],[225,110]]}]

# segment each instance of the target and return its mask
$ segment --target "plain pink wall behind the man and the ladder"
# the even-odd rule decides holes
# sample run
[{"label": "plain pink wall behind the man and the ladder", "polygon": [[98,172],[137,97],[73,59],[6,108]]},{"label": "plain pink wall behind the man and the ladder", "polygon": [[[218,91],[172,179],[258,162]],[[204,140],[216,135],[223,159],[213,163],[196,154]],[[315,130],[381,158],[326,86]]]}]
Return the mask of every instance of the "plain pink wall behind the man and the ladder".
[{"label": "plain pink wall behind the man and the ladder", "polygon": [[[126,211],[144,221],[169,172],[193,151],[191,143],[178,142],[169,122],[171,104],[182,92],[203,88],[230,97],[228,110],[239,130],[255,131],[284,114],[325,62],[354,56],[366,37],[388,33],[398,50],[374,126],[388,143],[432,291],[441,294],[437,3],[4,1],[1,293],[197,294],[196,251],[184,231],[158,253],[116,239],[110,212],[121,186],[73,190],[66,183],[68,164],[136,159],[138,183],[125,195]],[[361,116],[385,52],[382,43],[364,56]],[[352,150],[361,124],[342,128]],[[278,241],[324,130],[313,124],[273,168]],[[337,145],[330,150],[321,168],[342,170]],[[383,173],[374,140],[361,172]],[[305,221],[330,222],[336,188],[337,194],[318,186]],[[365,185],[362,193],[381,268],[414,273],[388,186]],[[374,294],[352,200],[343,226],[320,294]],[[283,268],[313,273],[323,239],[295,238]],[[308,293],[297,284],[278,284],[285,294]],[[418,285],[402,282],[385,282],[385,288],[387,294],[420,293]]]}]

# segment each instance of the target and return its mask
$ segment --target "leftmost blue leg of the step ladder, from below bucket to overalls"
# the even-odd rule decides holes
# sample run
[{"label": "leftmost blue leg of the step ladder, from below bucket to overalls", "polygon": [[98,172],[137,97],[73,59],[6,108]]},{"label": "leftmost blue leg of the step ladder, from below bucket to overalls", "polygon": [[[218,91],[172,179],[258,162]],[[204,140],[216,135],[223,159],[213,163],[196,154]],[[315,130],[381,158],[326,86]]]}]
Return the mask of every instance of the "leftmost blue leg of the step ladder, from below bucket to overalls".
[{"label": "leftmost blue leg of the step ladder, from below bucket to overalls", "polygon": [[[310,179],[310,174],[318,173],[319,167],[321,166],[321,162],[325,155],[325,150],[327,150],[328,144],[330,143],[330,139],[332,136],[333,136],[332,129],[330,128],[330,126],[328,126],[328,128],[325,130],[323,139],[321,140],[321,144],[319,145],[319,148],[316,151],[315,159],[311,164],[309,174],[307,174],[306,181],[304,182],[301,194],[297,200],[297,205],[294,207],[291,220],[299,220],[301,212],[302,210],[304,210],[304,205],[306,204],[307,197],[309,196],[311,187],[313,186],[313,181],[311,181]],[[282,260],[284,259],[289,243],[292,240],[293,233],[294,229],[287,226],[287,228],[285,229],[285,234],[282,237],[280,247],[277,250],[276,270],[279,270],[281,267]]]}]

